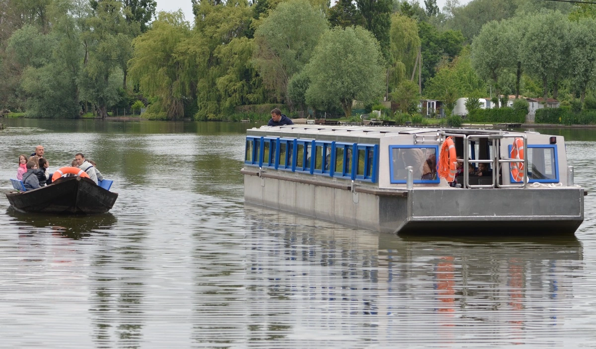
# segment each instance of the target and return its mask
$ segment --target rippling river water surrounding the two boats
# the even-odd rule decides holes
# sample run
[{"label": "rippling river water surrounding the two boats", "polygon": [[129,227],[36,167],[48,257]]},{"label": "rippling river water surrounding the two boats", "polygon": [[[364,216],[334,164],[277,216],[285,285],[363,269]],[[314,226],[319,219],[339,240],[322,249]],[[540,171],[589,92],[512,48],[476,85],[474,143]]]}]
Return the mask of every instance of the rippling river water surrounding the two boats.
[{"label": "rippling river water surrounding the two boats", "polygon": [[119,198],[56,217],[2,195],[1,348],[595,345],[595,131],[540,130],[590,193],[575,236],[404,238],[245,205],[253,124],[2,122],[3,192],[42,144],[54,170],[95,160]]}]

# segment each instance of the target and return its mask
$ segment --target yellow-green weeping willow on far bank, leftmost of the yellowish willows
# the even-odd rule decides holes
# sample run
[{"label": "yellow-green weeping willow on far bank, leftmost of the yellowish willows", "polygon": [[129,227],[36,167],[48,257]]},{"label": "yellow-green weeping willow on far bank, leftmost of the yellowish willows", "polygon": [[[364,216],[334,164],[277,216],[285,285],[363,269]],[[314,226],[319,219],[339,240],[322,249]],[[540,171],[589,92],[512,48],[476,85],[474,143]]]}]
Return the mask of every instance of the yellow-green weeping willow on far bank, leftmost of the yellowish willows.
[{"label": "yellow-green weeping willow on far bank, leftmost of the yellowish willows", "polygon": [[133,40],[128,74],[141,92],[157,98],[151,113],[165,114],[169,119],[184,116],[183,101],[190,94],[195,72],[182,68],[187,52],[180,46],[190,36],[182,11],[160,12],[151,29]]}]

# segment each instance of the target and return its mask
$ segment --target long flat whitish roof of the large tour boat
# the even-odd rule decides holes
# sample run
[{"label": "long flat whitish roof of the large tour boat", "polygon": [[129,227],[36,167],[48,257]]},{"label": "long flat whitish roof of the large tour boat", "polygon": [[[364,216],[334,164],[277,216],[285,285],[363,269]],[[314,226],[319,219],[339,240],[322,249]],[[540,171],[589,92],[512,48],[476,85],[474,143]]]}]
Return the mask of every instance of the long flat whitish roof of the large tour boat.
[{"label": "long flat whitish roof of the large tour boat", "polygon": [[449,128],[449,127],[412,127],[412,126],[355,126],[355,125],[312,125],[293,124],[284,126],[261,126],[247,130],[247,135],[252,136],[273,136],[288,138],[340,138],[358,137],[380,139],[387,136],[398,135],[436,135],[439,132],[457,133],[464,135],[500,135],[500,134],[523,134],[537,132],[518,132],[510,130],[488,130],[471,128]]}]

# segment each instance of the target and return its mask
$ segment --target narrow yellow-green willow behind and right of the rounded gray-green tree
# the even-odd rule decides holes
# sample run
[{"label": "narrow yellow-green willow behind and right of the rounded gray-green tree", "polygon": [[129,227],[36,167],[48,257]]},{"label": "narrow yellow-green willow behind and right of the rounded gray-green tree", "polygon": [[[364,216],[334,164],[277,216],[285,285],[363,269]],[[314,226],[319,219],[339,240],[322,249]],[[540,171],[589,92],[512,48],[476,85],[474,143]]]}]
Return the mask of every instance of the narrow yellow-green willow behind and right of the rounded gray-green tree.
[{"label": "narrow yellow-green willow behind and right of the rounded gray-green tree", "polygon": [[412,18],[405,15],[394,14],[391,17],[391,69],[389,71],[389,90],[399,85],[406,77],[411,76],[414,70],[420,38],[418,25]]}]

